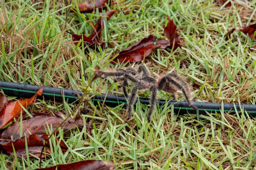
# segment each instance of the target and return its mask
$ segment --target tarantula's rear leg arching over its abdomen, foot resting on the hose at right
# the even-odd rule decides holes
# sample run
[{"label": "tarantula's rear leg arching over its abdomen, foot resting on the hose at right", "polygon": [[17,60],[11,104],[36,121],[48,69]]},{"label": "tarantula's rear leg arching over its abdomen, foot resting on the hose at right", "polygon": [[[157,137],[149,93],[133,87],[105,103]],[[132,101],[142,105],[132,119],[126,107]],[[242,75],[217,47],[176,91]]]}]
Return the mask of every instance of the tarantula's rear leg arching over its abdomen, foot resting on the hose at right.
[{"label": "tarantula's rear leg arching over its abdomen, foot resting on the hose at right", "polygon": [[[174,86],[176,86],[177,88],[181,89],[182,92],[183,92],[183,94],[184,94],[184,96],[185,96],[185,98],[186,98],[186,101],[187,101],[187,103],[188,103],[188,106],[191,107],[191,108],[193,108],[193,109],[195,109],[195,110],[197,110],[197,107],[194,106],[194,105],[192,104],[192,102],[190,101],[190,99],[189,99],[190,95],[189,95],[189,90],[188,90],[188,88],[186,88],[187,85],[186,85],[185,87],[183,87],[183,86],[182,86],[182,85],[183,85],[182,83],[181,83],[182,85],[180,85],[180,84],[177,83],[175,80],[173,80],[171,77],[165,76],[165,77],[163,77],[163,79],[159,82],[159,84],[158,84],[158,89],[162,87],[161,90],[166,91],[165,88],[164,88],[164,83],[165,83],[166,81],[172,83]],[[187,92],[188,92],[188,93],[187,93]]]}]

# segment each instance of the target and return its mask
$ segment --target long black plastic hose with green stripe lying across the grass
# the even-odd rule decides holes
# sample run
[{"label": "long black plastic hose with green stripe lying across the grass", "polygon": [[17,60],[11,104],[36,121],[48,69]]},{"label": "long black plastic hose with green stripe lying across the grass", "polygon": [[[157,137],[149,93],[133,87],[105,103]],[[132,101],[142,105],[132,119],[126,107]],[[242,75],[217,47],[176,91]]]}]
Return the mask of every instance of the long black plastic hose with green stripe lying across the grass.
[{"label": "long black plastic hose with green stripe lying across the grass", "polygon": [[[2,88],[4,94],[7,96],[30,98],[42,86],[0,81],[0,87]],[[61,91],[62,91],[62,94],[61,94]],[[62,102],[62,98],[65,98],[65,101],[67,101],[68,103],[72,103],[79,99],[78,96],[82,96],[81,91],[54,88],[54,87],[44,87],[42,96],[38,96],[38,98],[44,98],[45,100],[51,100],[56,102]],[[94,102],[95,105],[97,105],[98,101],[102,103],[104,99],[105,99],[104,103],[109,107],[115,107],[122,103],[127,104],[126,98],[120,95],[110,95],[110,94],[95,95],[91,100]],[[144,105],[149,104],[148,100],[149,100],[148,98],[140,97],[140,102]],[[159,100],[158,103],[159,103],[159,106],[162,106],[166,102],[165,100]],[[171,100],[168,102],[168,105],[172,105],[172,104],[174,105],[175,113],[179,113],[179,114],[186,114],[186,113],[196,114],[197,113],[197,111],[190,108],[187,102],[185,101]],[[194,105],[198,108],[199,114],[206,114],[206,111],[209,113],[211,112],[215,113],[215,112],[220,112],[221,110],[221,103],[194,102]],[[246,110],[249,115],[256,116],[255,104],[240,104],[239,106],[239,104],[224,103],[223,109],[225,112],[236,112],[236,110],[240,112],[242,110]]]}]

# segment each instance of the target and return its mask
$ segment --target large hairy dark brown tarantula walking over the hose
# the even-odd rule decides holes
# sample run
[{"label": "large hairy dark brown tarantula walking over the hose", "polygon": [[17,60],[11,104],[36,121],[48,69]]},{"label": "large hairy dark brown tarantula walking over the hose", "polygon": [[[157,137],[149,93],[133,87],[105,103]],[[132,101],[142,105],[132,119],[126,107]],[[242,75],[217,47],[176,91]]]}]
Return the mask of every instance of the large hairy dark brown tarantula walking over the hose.
[{"label": "large hairy dark brown tarantula walking over the hose", "polygon": [[[143,72],[143,74],[141,74]],[[122,76],[122,77],[121,77]],[[186,101],[189,105],[189,107],[197,110],[197,107],[192,104],[190,101],[190,89],[187,85],[187,83],[180,78],[175,73],[170,73],[167,75],[162,75],[157,77],[156,79],[150,76],[150,73],[146,69],[144,65],[140,65],[138,68],[138,71],[127,68],[124,69],[117,69],[116,72],[104,72],[102,75],[102,78],[106,77],[116,77],[114,79],[114,82],[123,82],[123,91],[124,95],[128,97],[128,94],[126,92],[126,87],[128,87],[128,80],[131,81],[135,86],[132,88],[132,93],[128,97],[128,106],[127,106],[127,120],[129,120],[132,116],[132,106],[136,102],[137,99],[137,91],[145,91],[149,89],[151,91],[151,99],[150,102],[150,108],[147,115],[147,121],[150,122],[151,115],[154,112],[154,107],[157,104],[157,91],[163,90],[168,93],[171,93],[174,100],[176,100],[175,93],[178,89],[182,90]]]}]

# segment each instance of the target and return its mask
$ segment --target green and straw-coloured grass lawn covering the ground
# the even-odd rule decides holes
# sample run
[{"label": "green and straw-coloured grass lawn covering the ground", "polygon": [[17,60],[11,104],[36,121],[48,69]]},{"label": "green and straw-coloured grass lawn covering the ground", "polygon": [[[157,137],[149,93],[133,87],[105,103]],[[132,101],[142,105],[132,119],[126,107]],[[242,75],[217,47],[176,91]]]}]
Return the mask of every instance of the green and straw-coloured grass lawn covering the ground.
[{"label": "green and straw-coloured grass lawn covering the ground", "polygon": [[[118,1],[108,9],[121,10],[104,22],[101,40],[105,49],[72,43],[66,30],[89,36],[100,16],[70,13],[65,25],[66,8],[60,1],[0,1],[0,80],[50,87],[81,89],[88,85],[82,76],[92,77],[94,67],[112,71],[133,63],[109,64],[111,55],[147,35],[165,38],[167,15],[177,25],[182,46],[176,51],[156,49],[143,63],[153,75],[177,72],[193,87],[195,101],[255,104],[256,42],[239,31],[225,40],[231,28],[256,23],[256,1],[240,1],[231,7],[214,0],[192,1]],[[240,5],[238,5],[240,4]],[[82,42],[83,43],[83,42]],[[79,43],[80,44],[80,43]],[[74,60],[78,67],[76,66]],[[135,63],[136,67],[139,63]],[[122,95],[121,84],[113,79],[97,79],[90,93]],[[184,100],[181,91],[179,99]],[[139,93],[149,97],[150,93]],[[171,99],[159,92],[159,98]],[[9,97],[8,99],[15,99]],[[112,163],[149,159],[116,166],[117,169],[255,169],[255,119],[246,111],[234,115],[221,108],[221,114],[179,116],[173,107],[157,106],[151,124],[148,108],[137,103],[134,119],[124,123],[125,107],[94,106],[82,115],[92,125],[92,134],[78,130],[65,139],[69,150],[56,149],[42,167],[97,159]],[[37,100],[28,112],[72,112],[68,104]],[[74,111],[77,114],[78,111]],[[240,116],[237,116],[240,115]],[[50,128],[50,127],[49,127]],[[63,139],[63,133],[58,135]],[[53,148],[58,148],[56,143]],[[39,159],[1,154],[1,169],[35,169]]]}]

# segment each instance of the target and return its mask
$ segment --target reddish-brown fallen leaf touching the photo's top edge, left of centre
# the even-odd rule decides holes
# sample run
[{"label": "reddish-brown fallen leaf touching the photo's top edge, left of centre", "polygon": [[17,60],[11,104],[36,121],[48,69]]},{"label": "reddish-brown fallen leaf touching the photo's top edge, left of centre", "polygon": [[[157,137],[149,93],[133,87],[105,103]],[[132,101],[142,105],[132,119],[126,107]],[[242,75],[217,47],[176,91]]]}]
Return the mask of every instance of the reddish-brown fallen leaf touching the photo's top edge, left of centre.
[{"label": "reddish-brown fallen leaf touching the photo's top edge, left of centre", "polygon": [[[91,12],[96,8],[106,7],[106,3],[108,3],[108,0],[91,0],[91,2],[82,2],[78,4],[78,8],[81,13]],[[70,9],[70,12],[73,11],[74,9]]]}]

